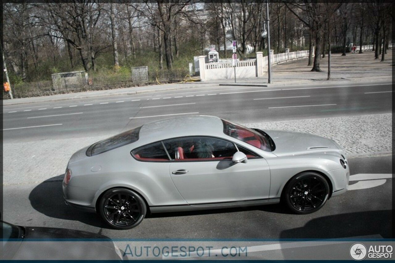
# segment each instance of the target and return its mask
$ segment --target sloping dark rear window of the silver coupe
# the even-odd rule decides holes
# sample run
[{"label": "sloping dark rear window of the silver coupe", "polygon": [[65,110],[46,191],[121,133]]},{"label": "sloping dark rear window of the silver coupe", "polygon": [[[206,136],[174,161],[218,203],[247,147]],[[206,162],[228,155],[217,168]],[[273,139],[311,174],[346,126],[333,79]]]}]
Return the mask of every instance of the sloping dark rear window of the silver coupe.
[{"label": "sloping dark rear window of the silver coupe", "polygon": [[141,126],[94,143],[88,148],[87,156],[94,156],[129,143],[134,143],[139,139],[140,128]]}]

